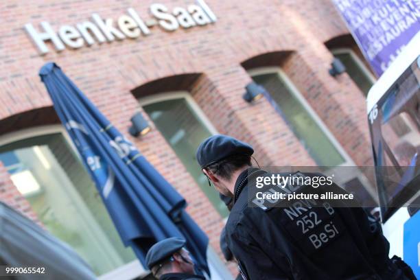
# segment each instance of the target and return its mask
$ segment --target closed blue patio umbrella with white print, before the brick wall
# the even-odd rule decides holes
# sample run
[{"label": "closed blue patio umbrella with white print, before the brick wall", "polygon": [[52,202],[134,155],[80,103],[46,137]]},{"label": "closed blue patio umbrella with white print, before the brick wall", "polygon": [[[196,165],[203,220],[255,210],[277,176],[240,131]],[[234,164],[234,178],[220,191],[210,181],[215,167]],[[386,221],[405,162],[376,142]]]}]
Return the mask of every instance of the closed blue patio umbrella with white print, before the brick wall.
[{"label": "closed blue patio umbrella with white print, before the brick wall", "polygon": [[183,237],[209,274],[208,237],[185,212],[186,202],[55,63],[39,72],[54,108],[95,181],[121,240],[143,266],[150,246]]}]

